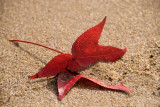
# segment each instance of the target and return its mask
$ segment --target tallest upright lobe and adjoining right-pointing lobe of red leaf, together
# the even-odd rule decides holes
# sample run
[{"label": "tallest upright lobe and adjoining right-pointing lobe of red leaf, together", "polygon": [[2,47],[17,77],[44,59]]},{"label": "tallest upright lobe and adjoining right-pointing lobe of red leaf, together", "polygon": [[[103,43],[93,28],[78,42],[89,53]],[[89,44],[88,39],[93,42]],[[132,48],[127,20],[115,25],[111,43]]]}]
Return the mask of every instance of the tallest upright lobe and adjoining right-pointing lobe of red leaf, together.
[{"label": "tallest upright lobe and adjoining right-pointing lobe of red leaf, together", "polygon": [[[80,35],[74,42],[72,46],[74,60],[68,64],[71,71],[79,71],[97,61],[114,62],[125,54],[127,48],[119,49],[112,46],[98,45],[105,21],[106,17],[98,25]],[[76,67],[73,67],[73,65]]]}]

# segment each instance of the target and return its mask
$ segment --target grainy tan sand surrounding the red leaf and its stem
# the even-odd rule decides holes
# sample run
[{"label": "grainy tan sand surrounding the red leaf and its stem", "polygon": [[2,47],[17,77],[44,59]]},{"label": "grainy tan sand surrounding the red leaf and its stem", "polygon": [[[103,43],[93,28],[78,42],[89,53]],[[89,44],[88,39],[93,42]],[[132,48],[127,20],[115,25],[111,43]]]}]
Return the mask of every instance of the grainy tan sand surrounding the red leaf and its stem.
[{"label": "grainy tan sand surrounding the red leaf and its stem", "polygon": [[[128,47],[115,63],[99,62],[82,74],[122,82],[133,94],[77,82],[58,101],[56,79],[29,80],[56,52],[71,53],[76,38],[107,21],[101,45]],[[160,106],[160,0],[0,0],[0,106]]]}]

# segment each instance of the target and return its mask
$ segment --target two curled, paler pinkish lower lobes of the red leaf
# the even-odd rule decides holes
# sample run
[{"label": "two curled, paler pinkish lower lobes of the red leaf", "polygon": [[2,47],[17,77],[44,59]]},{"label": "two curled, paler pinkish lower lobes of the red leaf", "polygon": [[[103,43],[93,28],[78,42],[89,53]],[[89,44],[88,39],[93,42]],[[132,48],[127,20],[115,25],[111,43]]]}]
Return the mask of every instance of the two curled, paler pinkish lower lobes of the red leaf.
[{"label": "two curled, paler pinkish lower lobes of the red leaf", "polygon": [[124,86],[122,83],[120,83],[119,85],[110,85],[107,86],[105,85],[105,82],[101,81],[101,80],[95,80],[93,78],[89,78],[86,77],[84,75],[72,75],[72,74],[66,74],[66,73],[61,73],[58,76],[58,80],[57,80],[57,85],[58,85],[58,93],[59,93],[59,100],[62,100],[62,98],[65,96],[65,94],[67,93],[67,91],[80,79],[80,78],[85,78],[97,85],[100,85],[101,87],[104,87],[106,89],[111,89],[111,90],[121,90],[121,91],[125,91],[128,93],[132,93],[132,91],[127,88],[126,86]]}]

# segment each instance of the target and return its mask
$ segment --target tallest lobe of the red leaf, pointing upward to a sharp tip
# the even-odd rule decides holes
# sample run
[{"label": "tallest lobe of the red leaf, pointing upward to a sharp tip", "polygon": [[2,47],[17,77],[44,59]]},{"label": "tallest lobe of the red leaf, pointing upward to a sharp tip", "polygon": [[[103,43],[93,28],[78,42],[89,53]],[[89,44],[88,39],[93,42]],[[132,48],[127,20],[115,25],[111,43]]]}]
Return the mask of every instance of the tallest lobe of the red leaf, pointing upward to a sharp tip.
[{"label": "tallest lobe of the red leaf, pointing upward to a sharp tip", "polygon": [[[90,28],[80,35],[72,46],[72,55],[76,58],[85,56],[87,50],[98,45],[98,40],[101,36],[106,17],[98,25]],[[91,52],[89,52],[91,53]]]}]

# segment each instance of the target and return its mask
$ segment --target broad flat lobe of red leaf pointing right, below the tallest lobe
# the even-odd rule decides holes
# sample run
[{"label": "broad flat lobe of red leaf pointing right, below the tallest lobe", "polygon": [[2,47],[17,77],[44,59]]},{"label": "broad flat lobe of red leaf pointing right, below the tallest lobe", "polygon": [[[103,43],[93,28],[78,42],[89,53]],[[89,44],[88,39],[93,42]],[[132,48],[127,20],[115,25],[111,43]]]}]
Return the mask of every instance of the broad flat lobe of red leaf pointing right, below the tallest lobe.
[{"label": "broad flat lobe of red leaf pointing right, below the tallest lobe", "polygon": [[95,50],[96,51],[91,52],[89,56],[86,55],[85,57],[77,58],[75,62],[81,67],[92,65],[97,61],[115,62],[126,53],[127,48],[119,49],[112,46],[97,46]]}]

